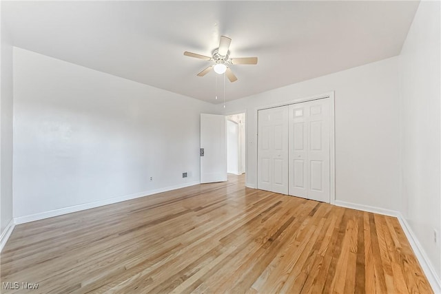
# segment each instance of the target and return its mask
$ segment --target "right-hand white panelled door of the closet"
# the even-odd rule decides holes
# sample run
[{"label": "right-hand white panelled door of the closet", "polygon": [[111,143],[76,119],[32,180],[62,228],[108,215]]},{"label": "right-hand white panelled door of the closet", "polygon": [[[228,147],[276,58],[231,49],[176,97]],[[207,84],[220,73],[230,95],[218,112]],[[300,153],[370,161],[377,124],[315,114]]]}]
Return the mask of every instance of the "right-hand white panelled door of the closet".
[{"label": "right-hand white panelled door of the closet", "polygon": [[289,195],[329,202],[329,99],[289,105]]}]

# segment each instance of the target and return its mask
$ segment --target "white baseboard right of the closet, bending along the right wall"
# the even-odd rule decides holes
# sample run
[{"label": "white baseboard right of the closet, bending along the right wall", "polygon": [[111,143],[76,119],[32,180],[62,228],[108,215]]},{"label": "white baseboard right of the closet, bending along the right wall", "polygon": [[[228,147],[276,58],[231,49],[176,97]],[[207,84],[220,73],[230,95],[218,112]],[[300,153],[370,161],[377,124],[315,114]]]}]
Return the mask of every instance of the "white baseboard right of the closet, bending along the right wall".
[{"label": "white baseboard right of the closet, bending along the right wall", "polygon": [[402,227],[402,230],[404,231],[404,234],[407,237],[407,240],[409,240],[409,243],[411,244],[413,253],[415,253],[416,258],[418,259],[418,262],[420,263],[422,271],[424,271],[424,275],[426,275],[427,280],[429,280],[429,283],[433,289],[433,292],[441,294],[441,280],[440,277],[436,274],[435,269],[433,268],[433,265],[431,264],[429,258],[427,257],[427,254],[425,253],[424,249],[422,248],[420,242],[416,238],[416,235],[411,230],[411,227],[407,223],[406,219],[402,216],[402,214],[399,211],[393,211],[391,209],[382,209],[379,207],[371,207],[369,205],[362,205],[362,204],[355,204],[351,202],[345,202],[336,200],[336,205],[339,207],[346,207],[350,209],[357,209],[361,211],[367,211],[372,213],[379,213],[384,216],[393,216],[398,219],[398,222],[400,222],[400,225]]}]

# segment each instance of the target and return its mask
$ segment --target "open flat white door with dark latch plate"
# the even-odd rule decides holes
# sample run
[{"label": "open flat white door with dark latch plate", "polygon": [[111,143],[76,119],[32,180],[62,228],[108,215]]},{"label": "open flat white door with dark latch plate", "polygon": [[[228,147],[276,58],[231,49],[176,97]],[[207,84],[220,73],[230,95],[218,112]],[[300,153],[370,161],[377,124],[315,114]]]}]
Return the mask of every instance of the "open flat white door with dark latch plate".
[{"label": "open flat white door with dark latch plate", "polygon": [[201,114],[201,183],[227,180],[225,116]]}]

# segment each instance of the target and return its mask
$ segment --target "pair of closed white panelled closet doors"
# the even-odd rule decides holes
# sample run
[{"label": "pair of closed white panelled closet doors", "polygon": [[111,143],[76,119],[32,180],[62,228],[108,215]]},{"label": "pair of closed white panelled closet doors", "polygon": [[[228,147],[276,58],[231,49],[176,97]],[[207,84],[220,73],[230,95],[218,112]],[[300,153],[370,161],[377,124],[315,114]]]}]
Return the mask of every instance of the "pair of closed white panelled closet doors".
[{"label": "pair of closed white panelled closet doors", "polygon": [[258,189],[330,200],[330,103],[258,111]]}]

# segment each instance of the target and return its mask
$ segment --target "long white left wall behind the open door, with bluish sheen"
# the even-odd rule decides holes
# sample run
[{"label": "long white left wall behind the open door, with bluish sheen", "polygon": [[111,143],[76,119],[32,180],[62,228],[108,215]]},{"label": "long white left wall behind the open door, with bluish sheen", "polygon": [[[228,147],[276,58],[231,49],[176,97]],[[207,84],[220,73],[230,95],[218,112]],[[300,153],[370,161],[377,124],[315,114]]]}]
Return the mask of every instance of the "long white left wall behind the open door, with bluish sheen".
[{"label": "long white left wall behind the open door, with bluish sheen", "polygon": [[198,182],[213,107],[14,48],[14,218]]}]

